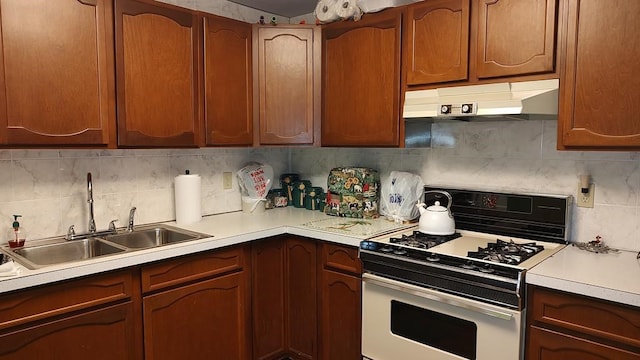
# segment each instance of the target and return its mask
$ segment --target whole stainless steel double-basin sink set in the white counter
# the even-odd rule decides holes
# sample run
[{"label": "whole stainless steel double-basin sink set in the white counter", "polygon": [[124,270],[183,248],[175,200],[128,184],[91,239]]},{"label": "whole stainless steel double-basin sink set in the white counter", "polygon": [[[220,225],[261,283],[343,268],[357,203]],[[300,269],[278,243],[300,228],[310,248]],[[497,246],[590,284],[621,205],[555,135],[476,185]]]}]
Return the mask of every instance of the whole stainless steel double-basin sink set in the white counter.
[{"label": "whole stainless steel double-basin sink set in the white counter", "polygon": [[[29,269],[88,260],[127,251],[143,250],[210,237],[167,225],[140,226],[132,232],[122,232],[82,240],[55,238],[38,241],[20,249],[2,249]],[[35,241],[34,241],[35,243]]]}]

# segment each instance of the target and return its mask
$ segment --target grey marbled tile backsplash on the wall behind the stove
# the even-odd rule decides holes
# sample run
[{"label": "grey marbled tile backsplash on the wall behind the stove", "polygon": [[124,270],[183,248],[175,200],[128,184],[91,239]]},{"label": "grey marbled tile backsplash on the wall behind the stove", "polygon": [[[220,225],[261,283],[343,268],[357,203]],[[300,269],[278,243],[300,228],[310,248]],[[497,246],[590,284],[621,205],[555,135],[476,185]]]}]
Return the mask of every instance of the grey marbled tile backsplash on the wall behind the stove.
[{"label": "grey marbled tile backsplash on the wall behind the stove", "polygon": [[556,150],[557,122],[438,122],[428,149],[321,148],[293,151],[291,168],[325,184],[334,166],[419,174],[426,184],[494,191],[577,195],[579,176],[591,175],[594,208],[572,207],[572,241],[602,236],[606,244],[640,249],[640,156],[635,152]]}]

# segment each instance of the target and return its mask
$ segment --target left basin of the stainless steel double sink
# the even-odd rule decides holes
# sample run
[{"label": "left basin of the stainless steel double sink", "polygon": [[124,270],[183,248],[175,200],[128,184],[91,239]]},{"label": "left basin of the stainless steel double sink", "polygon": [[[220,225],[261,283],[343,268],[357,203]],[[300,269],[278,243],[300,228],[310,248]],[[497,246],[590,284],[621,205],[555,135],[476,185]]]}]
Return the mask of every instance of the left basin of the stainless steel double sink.
[{"label": "left basin of the stainless steel double sink", "polygon": [[30,269],[38,269],[49,265],[117,254],[126,250],[124,247],[109,244],[101,239],[89,238],[74,241],[63,240],[62,242],[26,246],[8,251],[22,265]]}]

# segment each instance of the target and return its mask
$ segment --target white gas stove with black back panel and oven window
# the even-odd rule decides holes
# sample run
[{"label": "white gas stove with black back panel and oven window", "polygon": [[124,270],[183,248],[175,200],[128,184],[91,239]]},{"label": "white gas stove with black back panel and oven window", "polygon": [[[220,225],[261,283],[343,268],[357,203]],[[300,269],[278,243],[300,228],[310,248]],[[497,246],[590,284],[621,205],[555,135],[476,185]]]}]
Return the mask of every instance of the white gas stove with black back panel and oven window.
[{"label": "white gas stove with black back panel and oven window", "polygon": [[363,355],[522,358],[526,271],[566,246],[571,197],[428,190],[452,195],[455,234],[416,226],[360,243]]}]

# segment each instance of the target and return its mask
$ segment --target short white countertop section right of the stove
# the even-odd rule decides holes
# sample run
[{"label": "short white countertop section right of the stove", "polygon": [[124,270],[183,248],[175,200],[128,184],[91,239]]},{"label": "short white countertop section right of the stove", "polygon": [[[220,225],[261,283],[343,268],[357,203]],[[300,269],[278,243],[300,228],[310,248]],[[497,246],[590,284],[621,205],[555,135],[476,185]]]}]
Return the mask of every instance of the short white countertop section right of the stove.
[{"label": "short white countertop section right of the stove", "polygon": [[567,246],[527,271],[527,284],[640,307],[635,252],[596,254]]}]

